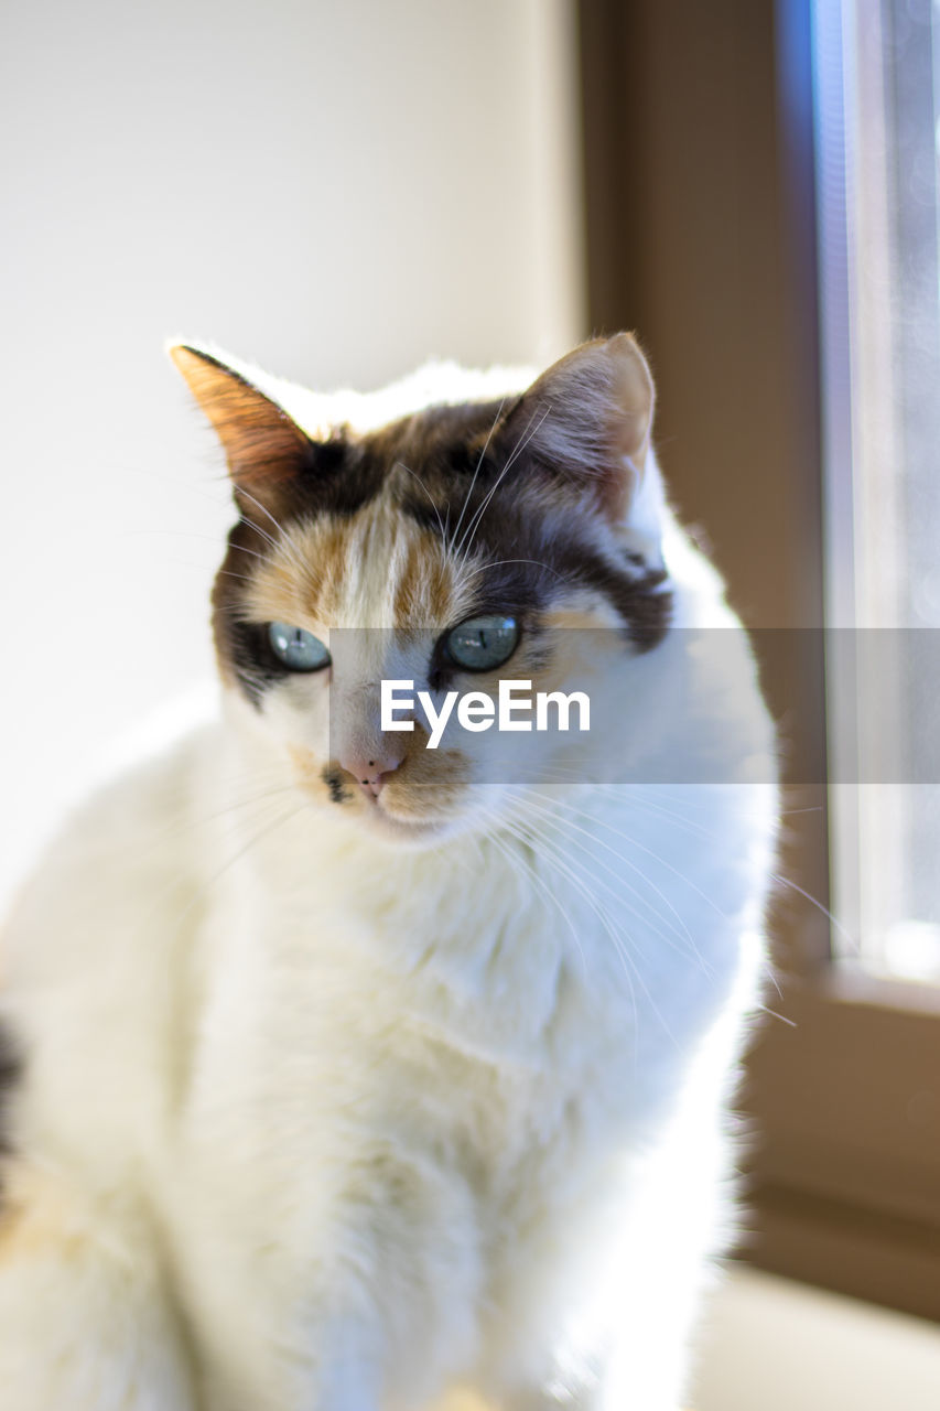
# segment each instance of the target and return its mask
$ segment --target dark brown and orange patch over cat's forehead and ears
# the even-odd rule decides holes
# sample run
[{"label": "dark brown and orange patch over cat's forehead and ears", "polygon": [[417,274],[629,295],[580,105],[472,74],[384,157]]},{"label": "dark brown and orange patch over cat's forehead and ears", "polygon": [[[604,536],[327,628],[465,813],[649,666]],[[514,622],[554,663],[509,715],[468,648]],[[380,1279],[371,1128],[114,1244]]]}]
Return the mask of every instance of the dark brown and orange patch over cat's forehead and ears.
[{"label": "dark brown and orange patch over cat's forehead and ears", "polygon": [[589,590],[641,650],[666,632],[666,574],[622,519],[653,405],[629,336],[583,344],[507,401],[432,405],[322,440],[264,374],[254,385],[189,346],[174,357],[231,467],[241,519],[213,622],[223,677],[255,703],[285,674],[260,632],[270,621],[443,631],[486,612],[531,621]]}]

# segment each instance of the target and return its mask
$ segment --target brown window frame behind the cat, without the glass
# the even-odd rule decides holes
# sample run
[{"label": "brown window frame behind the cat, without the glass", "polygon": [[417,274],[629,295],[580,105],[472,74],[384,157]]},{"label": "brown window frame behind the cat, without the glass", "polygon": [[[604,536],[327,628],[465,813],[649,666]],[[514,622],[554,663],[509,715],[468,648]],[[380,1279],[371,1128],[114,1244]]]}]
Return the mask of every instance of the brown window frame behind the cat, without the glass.
[{"label": "brown window frame behind the cat, without the glass", "polygon": [[[819,629],[810,0],[580,0],[579,37],[591,326],[649,350],[666,478],[745,622]],[[792,780],[826,749],[813,639],[802,673],[762,660]],[[786,806],[768,1003],[789,1023],[748,1061],[742,1256],[940,1319],[940,989],[833,964],[824,785]]]}]

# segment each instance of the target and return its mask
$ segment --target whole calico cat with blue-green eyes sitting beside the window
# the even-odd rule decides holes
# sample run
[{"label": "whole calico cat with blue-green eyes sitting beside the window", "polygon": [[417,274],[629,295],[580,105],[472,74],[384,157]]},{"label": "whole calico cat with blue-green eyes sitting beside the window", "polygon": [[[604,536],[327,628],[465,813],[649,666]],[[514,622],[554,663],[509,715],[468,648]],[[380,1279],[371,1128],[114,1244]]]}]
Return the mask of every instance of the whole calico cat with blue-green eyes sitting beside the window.
[{"label": "whole calico cat with blue-green eyes sitting beside the window", "polygon": [[[222,718],[80,809],[3,933],[3,1405],[676,1411],[776,786],[646,363],[326,398],[171,353],[239,511]],[[384,680],[505,677],[589,682],[590,729],[382,728]]]}]

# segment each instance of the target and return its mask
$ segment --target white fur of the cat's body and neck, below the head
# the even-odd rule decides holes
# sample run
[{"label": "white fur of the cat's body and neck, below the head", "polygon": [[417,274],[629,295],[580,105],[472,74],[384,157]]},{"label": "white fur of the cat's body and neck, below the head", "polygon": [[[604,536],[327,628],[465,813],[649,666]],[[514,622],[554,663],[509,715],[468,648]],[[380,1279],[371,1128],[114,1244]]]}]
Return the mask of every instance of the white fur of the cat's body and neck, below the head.
[{"label": "white fur of the cat's body and neck, below the head", "polygon": [[[662,514],[676,621],[737,639]],[[542,787],[556,862],[303,806],[236,698],[76,813],[4,933],[4,1407],[676,1411],[775,835],[741,663],[632,663],[611,777],[728,782]]]}]

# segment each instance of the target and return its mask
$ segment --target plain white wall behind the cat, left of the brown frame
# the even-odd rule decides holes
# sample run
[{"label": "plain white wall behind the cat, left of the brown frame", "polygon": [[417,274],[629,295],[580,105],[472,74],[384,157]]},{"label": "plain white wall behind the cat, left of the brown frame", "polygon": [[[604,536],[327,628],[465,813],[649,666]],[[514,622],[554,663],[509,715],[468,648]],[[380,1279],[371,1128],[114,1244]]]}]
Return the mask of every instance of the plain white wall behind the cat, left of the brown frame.
[{"label": "plain white wall behind the cat, left of the brown frame", "polygon": [[31,0],[0,55],[1,886],[209,669],[227,494],[168,334],[330,387],[584,330],[569,0]]}]

